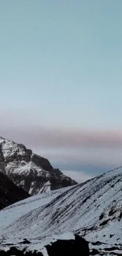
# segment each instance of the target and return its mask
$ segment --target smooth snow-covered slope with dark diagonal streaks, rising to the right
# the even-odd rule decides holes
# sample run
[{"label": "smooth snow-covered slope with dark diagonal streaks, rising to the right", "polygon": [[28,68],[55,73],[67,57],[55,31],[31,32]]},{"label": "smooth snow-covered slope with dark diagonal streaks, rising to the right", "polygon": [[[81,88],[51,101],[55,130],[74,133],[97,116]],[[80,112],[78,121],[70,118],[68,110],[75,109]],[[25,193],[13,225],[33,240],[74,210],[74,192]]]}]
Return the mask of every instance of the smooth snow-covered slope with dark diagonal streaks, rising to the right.
[{"label": "smooth snow-covered slope with dark diagonal streaks, rising to the right", "polygon": [[92,254],[122,254],[122,167],[83,184],[32,196],[0,212],[4,247],[9,243],[22,247],[19,241],[28,239],[29,250],[42,250],[47,241],[63,238],[64,233],[83,236]]}]

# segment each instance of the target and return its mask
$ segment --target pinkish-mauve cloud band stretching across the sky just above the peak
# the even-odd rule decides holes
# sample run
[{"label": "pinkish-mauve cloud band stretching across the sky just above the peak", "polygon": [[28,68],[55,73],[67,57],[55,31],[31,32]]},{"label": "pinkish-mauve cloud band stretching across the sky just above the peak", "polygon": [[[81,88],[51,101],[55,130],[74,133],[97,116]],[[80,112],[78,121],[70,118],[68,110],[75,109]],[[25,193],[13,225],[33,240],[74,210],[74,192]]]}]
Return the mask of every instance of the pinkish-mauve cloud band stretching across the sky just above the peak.
[{"label": "pinkish-mauve cloud band stretching across the sky just above the peak", "polygon": [[0,133],[31,147],[122,148],[122,131],[44,128],[37,124],[1,126]]}]

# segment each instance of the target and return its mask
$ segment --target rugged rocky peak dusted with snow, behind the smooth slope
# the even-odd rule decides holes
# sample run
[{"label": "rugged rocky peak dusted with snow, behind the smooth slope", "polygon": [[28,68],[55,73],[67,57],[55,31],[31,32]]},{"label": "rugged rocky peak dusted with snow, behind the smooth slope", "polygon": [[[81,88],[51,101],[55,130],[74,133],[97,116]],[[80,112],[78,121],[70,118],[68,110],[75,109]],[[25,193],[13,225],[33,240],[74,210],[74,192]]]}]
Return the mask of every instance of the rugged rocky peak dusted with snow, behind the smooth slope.
[{"label": "rugged rocky peak dusted with snow, behind the smooth slope", "polygon": [[0,169],[31,195],[76,184],[46,158],[28,150],[24,145],[0,137]]}]

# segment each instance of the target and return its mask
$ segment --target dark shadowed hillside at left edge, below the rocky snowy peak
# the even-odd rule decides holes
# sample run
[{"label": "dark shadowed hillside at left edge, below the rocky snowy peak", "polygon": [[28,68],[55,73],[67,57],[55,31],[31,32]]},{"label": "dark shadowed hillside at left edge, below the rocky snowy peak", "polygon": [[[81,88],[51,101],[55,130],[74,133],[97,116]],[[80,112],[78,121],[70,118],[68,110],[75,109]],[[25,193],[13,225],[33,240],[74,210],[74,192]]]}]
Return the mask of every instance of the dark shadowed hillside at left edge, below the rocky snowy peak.
[{"label": "dark shadowed hillside at left edge, below the rocky snowy peak", "polygon": [[5,174],[0,173],[0,210],[29,196],[21,187],[13,184]]}]

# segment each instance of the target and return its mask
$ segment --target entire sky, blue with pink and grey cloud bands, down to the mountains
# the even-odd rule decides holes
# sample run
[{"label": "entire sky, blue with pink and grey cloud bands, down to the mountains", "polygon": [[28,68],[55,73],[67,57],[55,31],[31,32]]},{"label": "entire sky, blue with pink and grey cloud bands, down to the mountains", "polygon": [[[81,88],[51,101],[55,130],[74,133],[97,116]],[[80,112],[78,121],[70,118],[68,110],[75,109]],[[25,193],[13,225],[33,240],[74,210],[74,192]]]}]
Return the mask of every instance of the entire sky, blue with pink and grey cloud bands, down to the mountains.
[{"label": "entire sky, blue with pink and grey cloud bands, down to the mountains", "polygon": [[78,182],[122,165],[122,1],[0,1],[0,135]]}]

